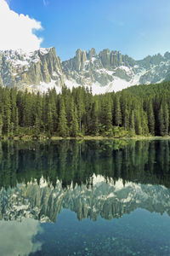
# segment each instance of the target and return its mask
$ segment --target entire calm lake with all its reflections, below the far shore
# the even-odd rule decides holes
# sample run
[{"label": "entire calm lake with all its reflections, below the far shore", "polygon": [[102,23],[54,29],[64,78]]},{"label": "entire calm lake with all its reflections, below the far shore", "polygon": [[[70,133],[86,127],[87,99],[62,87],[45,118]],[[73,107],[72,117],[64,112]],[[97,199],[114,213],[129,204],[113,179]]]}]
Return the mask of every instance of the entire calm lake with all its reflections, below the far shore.
[{"label": "entire calm lake with all its reflections, below the far shore", "polygon": [[0,255],[170,255],[170,141],[0,143]]}]

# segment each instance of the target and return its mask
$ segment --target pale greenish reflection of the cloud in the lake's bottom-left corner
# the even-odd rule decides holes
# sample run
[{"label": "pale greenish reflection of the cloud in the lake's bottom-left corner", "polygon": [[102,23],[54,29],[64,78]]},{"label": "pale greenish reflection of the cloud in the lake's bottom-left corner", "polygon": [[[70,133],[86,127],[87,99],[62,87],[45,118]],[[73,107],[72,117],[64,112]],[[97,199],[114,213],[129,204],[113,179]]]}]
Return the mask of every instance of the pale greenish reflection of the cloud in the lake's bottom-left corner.
[{"label": "pale greenish reflection of the cloud in the lake's bottom-left corner", "polygon": [[27,218],[22,222],[0,221],[0,255],[29,255],[41,250],[40,242],[32,238],[42,232],[37,220]]}]

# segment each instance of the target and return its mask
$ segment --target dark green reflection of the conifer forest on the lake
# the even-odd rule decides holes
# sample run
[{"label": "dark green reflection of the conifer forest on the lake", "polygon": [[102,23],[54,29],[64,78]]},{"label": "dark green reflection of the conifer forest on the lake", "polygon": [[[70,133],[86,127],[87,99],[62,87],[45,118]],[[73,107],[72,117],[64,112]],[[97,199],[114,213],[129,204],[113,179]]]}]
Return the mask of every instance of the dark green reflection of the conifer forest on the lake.
[{"label": "dark green reflection of the conifer forest on the lake", "polygon": [[0,188],[44,179],[90,186],[94,174],[170,187],[170,141],[0,143]]}]

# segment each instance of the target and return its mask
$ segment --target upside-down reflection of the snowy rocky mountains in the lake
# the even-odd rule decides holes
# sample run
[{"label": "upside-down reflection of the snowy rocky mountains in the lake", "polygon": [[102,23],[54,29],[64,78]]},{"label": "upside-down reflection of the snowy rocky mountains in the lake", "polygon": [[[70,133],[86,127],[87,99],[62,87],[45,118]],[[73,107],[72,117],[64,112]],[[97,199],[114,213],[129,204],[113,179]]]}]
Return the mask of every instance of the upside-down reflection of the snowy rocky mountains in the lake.
[{"label": "upside-down reflection of the snowy rocky mountains in the lake", "polygon": [[55,222],[62,208],[77,213],[77,218],[120,218],[137,208],[170,214],[170,190],[158,185],[108,183],[102,176],[93,177],[93,187],[86,185],[63,189],[59,181],[54,188],[43,179],[35,183],[18,184],[15,189],[1,189],[0,218],[19,220],[35,218]]}]

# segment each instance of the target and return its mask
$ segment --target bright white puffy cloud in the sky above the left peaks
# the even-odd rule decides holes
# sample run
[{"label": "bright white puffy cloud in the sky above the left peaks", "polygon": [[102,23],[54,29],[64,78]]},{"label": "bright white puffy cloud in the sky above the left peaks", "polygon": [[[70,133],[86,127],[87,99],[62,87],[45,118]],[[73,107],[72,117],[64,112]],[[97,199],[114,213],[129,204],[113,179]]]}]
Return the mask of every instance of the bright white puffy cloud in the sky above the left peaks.
[{"label": "bright white puffy cloud in the sky above the left peaks", "polygon": [[33,32],[41,29],[41,22],[15,13],[5,0],[0,0],[0,49],[39,49],[42,38]]}]

